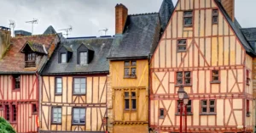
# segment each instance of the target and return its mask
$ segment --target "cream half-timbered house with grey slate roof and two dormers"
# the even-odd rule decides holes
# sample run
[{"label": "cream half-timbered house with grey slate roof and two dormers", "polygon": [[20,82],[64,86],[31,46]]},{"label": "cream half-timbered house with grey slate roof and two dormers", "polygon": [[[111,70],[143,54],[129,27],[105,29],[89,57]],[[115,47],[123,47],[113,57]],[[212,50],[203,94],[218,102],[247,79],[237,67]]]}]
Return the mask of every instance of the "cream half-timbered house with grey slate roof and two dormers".
[{"label": "cream half-timbered house with grey slate roof and two dormers", "polygon": [[107,56],[112,36],[67,38],[45,65],[40,132],[107,129]]}]

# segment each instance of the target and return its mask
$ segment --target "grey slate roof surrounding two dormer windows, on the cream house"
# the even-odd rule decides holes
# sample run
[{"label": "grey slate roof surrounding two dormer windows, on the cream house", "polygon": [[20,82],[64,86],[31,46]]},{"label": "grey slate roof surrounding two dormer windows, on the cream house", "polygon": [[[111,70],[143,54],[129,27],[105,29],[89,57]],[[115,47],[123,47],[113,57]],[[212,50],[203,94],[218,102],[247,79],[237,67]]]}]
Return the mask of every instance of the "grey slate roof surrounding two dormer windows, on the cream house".
[{"label": "grey slate roof surrounding two dormer windows, on the cream house", "polygon": [[[79,75],[79,74],[108,74],[109,64],[107,60],[113,42],[113,37],[110,38],[85,38],[71,39],[66,42],[61,42],[59,47],[55,49],[49,62],[45,65],[42,75]],[[90,45],[94,50],[94,57],[90,64],[77,64],[77,49],[81,45]],[[73,55],[67,64],[58,63],[58,51],[62,46],[72,48]]]}]

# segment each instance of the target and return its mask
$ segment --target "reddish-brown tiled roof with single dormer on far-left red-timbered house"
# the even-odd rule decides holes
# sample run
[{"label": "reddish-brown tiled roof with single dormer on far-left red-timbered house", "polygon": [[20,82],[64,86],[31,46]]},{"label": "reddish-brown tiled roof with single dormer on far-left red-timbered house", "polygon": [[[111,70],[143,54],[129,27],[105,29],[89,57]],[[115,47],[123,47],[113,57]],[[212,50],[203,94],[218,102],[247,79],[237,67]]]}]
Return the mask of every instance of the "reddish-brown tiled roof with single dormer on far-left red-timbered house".
[{"label": "reddish-brown tiled roof with single dormer on far-left red-timbered house", "polygon": [[[20,53],[26,42],[44,44],[46,50],[55,42],[56,35],[18,36],[11,38],[10,46],[0,60],[0,74],[30,74],[35,73],[38,68],[25,68],[25,54]],[[41,64],[44,61],[41,61]]]}]

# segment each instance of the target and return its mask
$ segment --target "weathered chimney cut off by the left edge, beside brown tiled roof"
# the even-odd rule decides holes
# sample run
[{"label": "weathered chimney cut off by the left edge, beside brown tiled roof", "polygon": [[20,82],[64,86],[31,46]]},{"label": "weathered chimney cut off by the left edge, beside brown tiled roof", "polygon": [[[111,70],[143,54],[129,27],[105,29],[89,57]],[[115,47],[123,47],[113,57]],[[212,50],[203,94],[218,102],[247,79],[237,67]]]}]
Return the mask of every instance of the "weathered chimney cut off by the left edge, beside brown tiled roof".
[{"label": "weathered chimney cut off by the left edge, beside brown tiled roof", "polygon": [[7,27],[0,26],[0,58],[10,45],[11,31]]}]

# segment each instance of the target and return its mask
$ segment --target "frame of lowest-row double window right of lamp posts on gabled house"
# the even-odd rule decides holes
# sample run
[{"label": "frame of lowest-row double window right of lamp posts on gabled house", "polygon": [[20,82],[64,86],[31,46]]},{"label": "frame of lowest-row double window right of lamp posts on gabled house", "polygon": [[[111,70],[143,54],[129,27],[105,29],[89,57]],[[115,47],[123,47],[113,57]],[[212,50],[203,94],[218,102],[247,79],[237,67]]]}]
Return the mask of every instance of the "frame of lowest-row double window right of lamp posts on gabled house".
[{"label": "frame of lowest-row double window right of lamp posts on gabled house", "polygon": [[[207,105],[203,105],[203,101],[206,101]],[[214,101],[214,105],[211,105],[211,101]],[[203,108],[207,108],[207,112],[203,112]],[[211,108],[214,108],[214,112],[211,112]],[[201,115],[216,115],[216,108],[216,99],[201,99]]]}]

